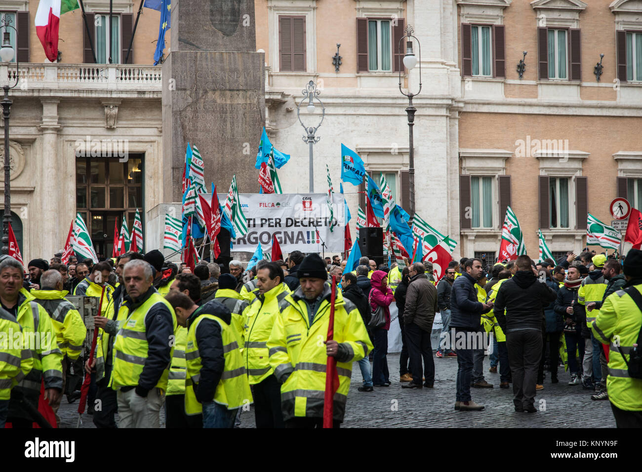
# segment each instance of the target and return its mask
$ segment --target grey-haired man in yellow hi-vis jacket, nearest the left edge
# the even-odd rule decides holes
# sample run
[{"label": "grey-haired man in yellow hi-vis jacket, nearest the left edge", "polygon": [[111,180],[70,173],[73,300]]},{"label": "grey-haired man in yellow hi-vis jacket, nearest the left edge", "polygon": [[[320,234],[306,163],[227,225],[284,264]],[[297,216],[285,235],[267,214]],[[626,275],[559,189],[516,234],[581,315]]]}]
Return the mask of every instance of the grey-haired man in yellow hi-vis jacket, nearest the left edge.
[{"label": "grey-haired man in yellow hi-vis jacket, nearest the left edge", "polygon": [[0,305],[6,310],[3,314],[19,323],[33,352],[31,372],[11,391],[7,421],[14,428],[31,428],[31,411],[38,409],[43,380],[45,399],[59,402],[62,394],[62,351],[46,310],[22,288],[23,270],[13,257],[0,256]]}]

